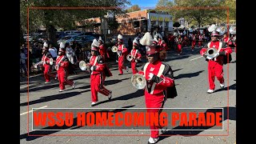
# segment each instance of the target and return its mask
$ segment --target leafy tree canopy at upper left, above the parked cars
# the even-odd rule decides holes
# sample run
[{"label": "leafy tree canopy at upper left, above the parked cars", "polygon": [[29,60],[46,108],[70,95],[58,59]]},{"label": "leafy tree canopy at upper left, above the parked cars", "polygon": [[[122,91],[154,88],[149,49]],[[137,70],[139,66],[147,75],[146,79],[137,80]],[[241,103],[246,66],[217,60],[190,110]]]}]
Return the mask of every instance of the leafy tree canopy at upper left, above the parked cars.
[{"label": "leafy tree canopy at upper left, above the parked cars", "polygon": [[[27,8],[31,6],[39,7],[116,7],[112,9],[115,13],[121,13],[122,7],[130,5],[128,0],[21,0],[20,2],[20,20],[22,29],[26,30],[27,26]],[[121,8],[118,8],[121,7]],[[88,10],[49,10],[49,9],[30,9],[29,11],[29,29],[35,30],[39,26],[45,26],[47,30],[48,40],[56,45],[55,27],[68,29],[76,28],[76,23],[86,18],[95,18],[103,16],[108,9],[88,9]]]}]

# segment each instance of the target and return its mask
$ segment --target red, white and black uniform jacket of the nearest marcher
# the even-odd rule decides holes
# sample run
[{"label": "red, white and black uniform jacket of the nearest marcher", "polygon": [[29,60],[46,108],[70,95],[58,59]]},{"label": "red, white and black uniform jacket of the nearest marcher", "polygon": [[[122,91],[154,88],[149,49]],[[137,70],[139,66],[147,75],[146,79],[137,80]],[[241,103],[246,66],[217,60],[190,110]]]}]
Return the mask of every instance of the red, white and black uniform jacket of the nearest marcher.
[{"label": "red, white and black uniform jacket of the nearest marcher", "polygon": [[[155,82],[148,81],[150,73],[157,76]],[[145,93],[154,95],[165,93],[167,98],[177,96],[173,71],[165,62],[157,61],[154,64],[147,62],[138,74],[142,74],[146,78]]]}]

